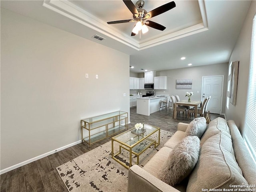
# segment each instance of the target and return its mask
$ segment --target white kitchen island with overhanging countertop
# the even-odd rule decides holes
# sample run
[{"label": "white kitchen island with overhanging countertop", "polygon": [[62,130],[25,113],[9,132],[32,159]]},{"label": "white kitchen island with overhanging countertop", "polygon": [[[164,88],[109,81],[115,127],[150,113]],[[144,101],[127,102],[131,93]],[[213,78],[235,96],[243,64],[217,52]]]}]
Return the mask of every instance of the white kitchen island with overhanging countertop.
[{"label": "white kitchen island with overhanging countertop", "polygon": [[157,112],[160,101],[166,100],[167,96],[150,96],[137,98],[137,114],[147,115]]}]

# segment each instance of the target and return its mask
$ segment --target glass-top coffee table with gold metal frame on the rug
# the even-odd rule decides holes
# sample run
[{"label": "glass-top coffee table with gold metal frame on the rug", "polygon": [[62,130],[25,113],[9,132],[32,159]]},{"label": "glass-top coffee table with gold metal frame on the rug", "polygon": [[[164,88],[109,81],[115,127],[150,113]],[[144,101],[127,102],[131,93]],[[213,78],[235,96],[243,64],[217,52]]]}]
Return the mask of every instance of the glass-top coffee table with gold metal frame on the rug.
[{"label": "glass-top coffee table with gold metal frame on the rug", "polygon": [[[150,137],[152,134],[158,132],[157,141]],[[150,137],[150,138],[149,138]],[[120,163],[122,166],[129,168],[132,166],[132,154],[137,156],[137,163],[139,163],[139,156],[145,150],[147,150],[152,144],[154,144],[154,148],[156,148],[160,143],[160,128],[155,126],[150,126],[147,124],[143,124],[143,129],[138,132],[136,128],[132,128],[126,132],[123,132],[117,136],[111,138],[112,142],[112,158]],[[117,142],[119,145],[119,150],[114,153],[114,142]],[[118,155],[122,153],[122,149],[127,150],[129,152],[129,166],[122,162]]]}]

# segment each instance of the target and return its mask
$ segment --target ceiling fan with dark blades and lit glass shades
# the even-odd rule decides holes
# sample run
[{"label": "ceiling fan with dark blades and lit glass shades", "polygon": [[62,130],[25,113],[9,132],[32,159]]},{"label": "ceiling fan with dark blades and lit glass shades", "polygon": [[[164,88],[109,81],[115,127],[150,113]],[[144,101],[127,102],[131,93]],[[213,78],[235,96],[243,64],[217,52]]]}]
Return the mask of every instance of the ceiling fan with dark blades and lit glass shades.
[{"label": "ceiling fan with dark blades and lit glass shades", "polygon": [[[142,9],[145,2],[143,0],[139,0],[136,2],[136,6],[132,3],[131,0],[123,0],[124,4],[127,6],[127,8],[132,12],[133,19],[128,20],[119,20],[119,21],[110,21],[107,22],[107,24],[117,24],[117,23],[128,23],[128,22],[136,22],[136,25],[134,26],[132,30],[131,36],[134,36],[138,34],[138,32],[142,32],[143,34],[148,32],[148,27],[152,27],[154,29],[158,30],[165,30],[166,27],[162,26],[156,22],[148,21],[147,19],[152,18],[154,16],[158,16],[168,10],[171,10],[172,8],[176,7],[176,4],[174,1],[166,3],[158,8],[155,8],[154,10],[147,12],[146,10]],[[147,21],[146,21],[147,20]]]}]

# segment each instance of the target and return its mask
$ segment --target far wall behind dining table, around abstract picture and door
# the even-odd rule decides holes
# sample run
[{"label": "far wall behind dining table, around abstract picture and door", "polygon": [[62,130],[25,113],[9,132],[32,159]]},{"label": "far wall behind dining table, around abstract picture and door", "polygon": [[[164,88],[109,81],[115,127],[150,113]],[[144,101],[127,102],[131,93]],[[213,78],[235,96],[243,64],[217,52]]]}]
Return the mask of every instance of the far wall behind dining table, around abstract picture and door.
[{"label": "far wall behind dining table, around abstract picture and door", "polygon": [[[224,75],[224,89],[227,85],[228,63],[188,67],[172,70],[157,71],[156,76],[167,76],[167,90],[156,90],[157,94],[179,95],[181,100],[187,99],[185,93],[194,92],[193,100],[201,100],[202,76]],[[192,89],[176,89],[177,79],[192,79]],[[197,91],[199,92],[197,94]],[[226,91],[223,93],[226,98]],[[223,99],[222,113],[225,112],[226,100]]]}]

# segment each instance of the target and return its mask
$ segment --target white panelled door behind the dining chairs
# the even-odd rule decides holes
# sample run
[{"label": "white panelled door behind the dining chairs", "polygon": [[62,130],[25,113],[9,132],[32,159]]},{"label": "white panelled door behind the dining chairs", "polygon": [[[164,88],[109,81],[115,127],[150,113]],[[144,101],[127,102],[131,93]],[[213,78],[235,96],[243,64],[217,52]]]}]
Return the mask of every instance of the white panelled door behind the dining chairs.
[{"label": "white panelled door behind the dining chairs", "polygon": [[202,77],[202,101],[211,96],[207,112],[220,114],[222,110],[224,76]]}]

